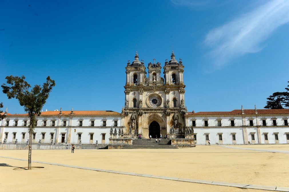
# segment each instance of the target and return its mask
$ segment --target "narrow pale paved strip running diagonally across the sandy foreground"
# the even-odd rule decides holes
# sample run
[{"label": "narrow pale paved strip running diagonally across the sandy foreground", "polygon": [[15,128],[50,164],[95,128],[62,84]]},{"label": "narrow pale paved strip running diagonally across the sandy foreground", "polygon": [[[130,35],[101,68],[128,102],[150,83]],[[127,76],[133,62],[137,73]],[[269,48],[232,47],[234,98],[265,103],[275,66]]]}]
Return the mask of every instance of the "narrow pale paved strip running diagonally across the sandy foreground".
[{"label": "narrow pale paved strip running diagonally across the sandy foreground", "polygon": [[[243,148],[240,148],[240,149],[243,149]],[[26,159],[18,159],[18,158],[12,158],[12,157],[4,157],[4,156],[0,156],[0,157],[8,158],[8,159],[14,159],[14,160],[20,160],[20,161],[27,161]],[[209,185],[221,185],[221,186],[227,186],[227,187],[238,187],[241,189],[247,188],[247,189],[262,189],[262,190],[270,190],[270,191],[289,191],[289,188],[286,188],[286,187],[250,185],[250,184],[241,184],[241,183],[228,183],[228,182],[197,180],[197,179],[178,178],[178,177],[166,177],[166,176],[158,176],[158,175],[148,175],[148,174],[103,170],[103,169],[96,169],[96,168],[90,168],[90,167],[78,167],[78,166],[73,166],[73,165],[64,165],[64,164],[49,163],[49,162],[42,162],[42,161],[32,161],[32,162],[49,164],[49,165],[57,165],[57,166],[63,166],[63,167],[71,167],[71,168],[77,168],[77,169],[107,172],[107,173],[117,173],[117,174],[125,174],[125,175],[132,175],[132,176],[141,176],[141,177],[158,178],[158,179],[166,179],[166,180],[184,181],[184,182],[192,182],[192,183],[202,183],[202,184],[209,184]]]}]

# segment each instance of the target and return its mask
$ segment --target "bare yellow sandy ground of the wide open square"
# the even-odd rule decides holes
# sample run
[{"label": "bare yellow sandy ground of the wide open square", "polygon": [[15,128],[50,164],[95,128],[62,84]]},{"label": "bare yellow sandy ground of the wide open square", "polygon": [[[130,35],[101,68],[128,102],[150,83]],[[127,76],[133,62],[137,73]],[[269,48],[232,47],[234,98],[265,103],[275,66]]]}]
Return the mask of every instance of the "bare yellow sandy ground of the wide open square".
[{"label": "bare yellow sandy ground of the wide open square", "polygon": [[[276,146],[266,145],[279,150]],[[289,145],[281,146],[280,150],[284,150]],[[27,159],[28,150],[0,150],[0,155]],[[220,146],[166,150],[75,150],[75,153],[70,150],[33,150],[32,160],[141,174],[289,187],[288,154]],[[0,180],[0,191],[260,191],[41,163],[32,163],[32,166],[45,168],[16,171],[13,168],[27,167],[27,162],[6,158],[0,158],[0,165],[1,176],[5,175]]]}]

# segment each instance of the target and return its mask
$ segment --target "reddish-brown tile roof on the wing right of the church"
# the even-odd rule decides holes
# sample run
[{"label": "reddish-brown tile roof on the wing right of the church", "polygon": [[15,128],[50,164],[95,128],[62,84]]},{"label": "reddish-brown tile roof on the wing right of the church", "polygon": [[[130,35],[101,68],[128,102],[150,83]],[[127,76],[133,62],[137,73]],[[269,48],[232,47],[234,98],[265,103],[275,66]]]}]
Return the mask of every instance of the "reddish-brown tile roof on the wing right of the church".
[{"label": "reddish-brown tile roof on the wing right of the church", "polygon": [[[289,109],[257,109],[258,114],[289,114]],[[244,109],[245,114],[255,114],[254,109]],[[212,112],[188,112],[188,115],[239,115],[242,110],[233,111],[212,111]]]}]

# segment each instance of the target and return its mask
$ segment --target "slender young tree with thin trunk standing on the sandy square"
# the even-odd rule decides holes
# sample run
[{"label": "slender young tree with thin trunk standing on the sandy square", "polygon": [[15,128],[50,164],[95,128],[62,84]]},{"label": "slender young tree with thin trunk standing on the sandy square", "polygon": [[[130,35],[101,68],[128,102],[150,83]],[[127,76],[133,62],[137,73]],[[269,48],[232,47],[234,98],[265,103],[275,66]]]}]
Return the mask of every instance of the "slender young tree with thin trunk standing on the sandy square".
[{"label": "slender young tree with thin trunk standing on the sandy square", "polygon": [[16,98],[19,104],[24,107],[30,119],[29,132],[29,152],[28,152],[28,170],[31,169],[31,149],[32,135],[34,132],[35,117],[40,116],[41,109],[46,103],[46,100],[51,92],[55,81],[48,76],[46,82],[42,86],[35,85],[33,88],[25,81],[25,77],[7,76],[7,85],[3,83],[3,93],[8,96],[8,99]]}]

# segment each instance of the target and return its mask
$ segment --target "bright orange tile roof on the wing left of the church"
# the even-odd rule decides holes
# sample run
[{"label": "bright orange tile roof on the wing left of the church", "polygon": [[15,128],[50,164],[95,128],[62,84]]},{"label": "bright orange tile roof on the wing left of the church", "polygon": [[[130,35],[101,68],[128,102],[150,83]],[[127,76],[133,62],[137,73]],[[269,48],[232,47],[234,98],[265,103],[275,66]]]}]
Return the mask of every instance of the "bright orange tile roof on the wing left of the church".
[{"label": "bright orange tile roof on the wing left of the church", "polygon": [[[62,115],[71,115],[71,111],[62,111]],[[60,111],[44,111],[41,115],[59,115]],[[13,116],[27,116],[28,114],[8,114]],[[114,111],[73,111],[73,115],[120,115]]]}]

